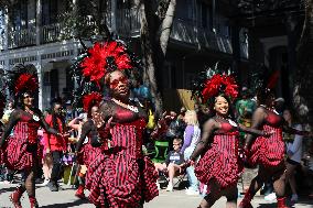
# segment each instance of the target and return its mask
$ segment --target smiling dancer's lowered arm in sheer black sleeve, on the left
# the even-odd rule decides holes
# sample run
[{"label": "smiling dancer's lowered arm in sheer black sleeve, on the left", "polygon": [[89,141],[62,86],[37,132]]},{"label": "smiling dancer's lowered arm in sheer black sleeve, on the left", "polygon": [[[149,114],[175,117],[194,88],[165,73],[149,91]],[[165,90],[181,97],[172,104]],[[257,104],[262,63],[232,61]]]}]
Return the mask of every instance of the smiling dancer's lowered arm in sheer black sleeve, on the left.
[{"label": "smiling dancer's lowered arm in sheer black sleeve, on the left", "polygon": [[220,128],[220,123],[216,122],[214,119],[209,119],[204,123],[202,139],[197,143],[193,154],[191,155],[191,161],[196,161],[196,158],[203,153],[203,151],[208,146],[211,138],[214,131]]}]

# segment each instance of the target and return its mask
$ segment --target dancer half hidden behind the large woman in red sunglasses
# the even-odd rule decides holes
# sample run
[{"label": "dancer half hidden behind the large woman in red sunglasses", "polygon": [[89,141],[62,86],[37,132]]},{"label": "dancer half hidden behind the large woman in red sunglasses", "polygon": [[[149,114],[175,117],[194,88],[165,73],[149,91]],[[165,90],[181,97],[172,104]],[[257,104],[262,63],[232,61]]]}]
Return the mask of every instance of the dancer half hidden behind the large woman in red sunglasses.
[{"label": "dancer half hidden behind the large woman in red sunglasses", "polygon": [[[99,92],[90,92],[83,97],[84,110],[88,112],[88,121],[85,122],[82,127],[82,132],[79,140],[76,144],[76,155],[78,164],[88,166],[95,161],[95,158],[101,154],[101,149],[93,147],[90,143],[90,131],[94,123],[98,124],[98,128],[102,125],[100,114],[98,113],[99,105],[102,101],[102,96]],[[85,142],[86,138],[88,139]],[[85,189],[85,174],[79,173],[79,186],[75,194],[78,198],[85,198],[84,189]]]}]

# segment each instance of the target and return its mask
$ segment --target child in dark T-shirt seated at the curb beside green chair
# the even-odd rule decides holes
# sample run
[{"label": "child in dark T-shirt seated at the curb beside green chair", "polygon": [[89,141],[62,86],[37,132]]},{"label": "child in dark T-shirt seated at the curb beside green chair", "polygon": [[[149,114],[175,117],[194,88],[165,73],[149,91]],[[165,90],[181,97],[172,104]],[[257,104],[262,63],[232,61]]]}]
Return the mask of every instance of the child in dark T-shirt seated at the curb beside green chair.
[{"label": "child in dark T-shirt seated at the curb beside green chair", "polygon": [[[184,156],[181,153],[182,140],[175,138],[173,140],[173,151],[170,151],[165,163],[154,163],[158,172],[169,174],[169,185],[166,190],[173,191],[173,178],[182,173],[182,165],[184,164]],[[158,188],[160,185],[158,183]]]}]

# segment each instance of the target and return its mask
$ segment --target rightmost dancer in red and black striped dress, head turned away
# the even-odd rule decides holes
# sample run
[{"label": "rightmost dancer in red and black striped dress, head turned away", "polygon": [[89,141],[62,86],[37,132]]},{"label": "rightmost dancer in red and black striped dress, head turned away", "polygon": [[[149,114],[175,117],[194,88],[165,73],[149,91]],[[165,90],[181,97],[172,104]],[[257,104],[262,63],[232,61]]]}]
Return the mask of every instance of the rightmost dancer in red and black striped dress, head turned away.
[{"label": "rightmost dancer in red and black striped dress, head turned away", "polygon": [[[269,139],[258,136],[253,140],[252,135],[248,135],[246,140],[245,152],[249,155],[248,162],[253,166],[259,164],[259,171],[258,175],[251,180],[250,187],[239,207],[251,208],[250,201],[255,194],[262,187],[265,182],[272,179],[278,207],[285,208],[285,166],[282,131],[301,135],[311,135],[311,133],[298,131],[288,125],[274,110],[274,94],[269,87],[263,87],[259,90],[257,98],[259,107],[253,112],[251,128],[274,133]],[[249,147],[250,153],[248,153]]]}]

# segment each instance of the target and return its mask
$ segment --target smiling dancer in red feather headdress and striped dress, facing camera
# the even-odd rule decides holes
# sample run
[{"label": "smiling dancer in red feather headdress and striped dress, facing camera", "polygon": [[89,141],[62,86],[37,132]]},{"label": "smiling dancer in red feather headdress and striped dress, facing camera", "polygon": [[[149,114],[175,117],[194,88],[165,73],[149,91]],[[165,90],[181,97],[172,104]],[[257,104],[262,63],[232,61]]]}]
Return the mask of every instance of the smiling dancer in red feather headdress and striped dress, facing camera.
[{"label": "smiling dancer in red feather headdress and striped dress, facing camera", "polygon": [[230,100],[237,97],[238,88],[231,76],[215,74],[207,78],[204,85],[198,86],[196,90],[201,89],[201,92],[197,92],[197,96],[204,103],[209,105],[211,112],[214,113],[204,123],[202,139],[190,162],[196,163],[197,157],[202,155],[195,165],[195,174],[199,182],[207,185],[208,194],[199,207],[212,207],[222,196],[226,196],[226,206],[236,208],[237,182],[244,168],[238,151],[239,131],[263,136],[269,133],[246,128],[231,120]]}]

